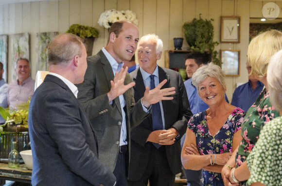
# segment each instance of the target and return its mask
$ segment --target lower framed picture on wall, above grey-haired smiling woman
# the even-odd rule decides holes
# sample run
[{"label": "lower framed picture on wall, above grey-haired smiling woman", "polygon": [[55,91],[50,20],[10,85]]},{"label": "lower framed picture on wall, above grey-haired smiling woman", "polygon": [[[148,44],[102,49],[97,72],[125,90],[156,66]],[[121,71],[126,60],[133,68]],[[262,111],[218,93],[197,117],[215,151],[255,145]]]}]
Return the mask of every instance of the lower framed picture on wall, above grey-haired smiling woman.
[{"label": "lower framed picture on wall, above grey-haired smiling woman", "polygon": [[220,64],[225,76],[240,76],[240,50],[220,50]]}]

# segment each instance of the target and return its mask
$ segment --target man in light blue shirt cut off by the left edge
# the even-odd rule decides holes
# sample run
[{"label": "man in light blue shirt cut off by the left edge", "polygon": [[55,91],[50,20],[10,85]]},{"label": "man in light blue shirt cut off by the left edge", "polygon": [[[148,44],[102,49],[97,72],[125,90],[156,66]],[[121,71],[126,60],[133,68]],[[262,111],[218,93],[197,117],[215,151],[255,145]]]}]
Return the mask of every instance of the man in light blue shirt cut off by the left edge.
[{"label": "man in light blue shirt cut off by the left edge", "polygon": [[[3,63],[0,62],[0,106],[2,108],[7,108],[7,86],[8,84],[5,82],[5,79],[3,79]],[[7,118],[2,118],[0,116],[0,124],[4,124]]]}]

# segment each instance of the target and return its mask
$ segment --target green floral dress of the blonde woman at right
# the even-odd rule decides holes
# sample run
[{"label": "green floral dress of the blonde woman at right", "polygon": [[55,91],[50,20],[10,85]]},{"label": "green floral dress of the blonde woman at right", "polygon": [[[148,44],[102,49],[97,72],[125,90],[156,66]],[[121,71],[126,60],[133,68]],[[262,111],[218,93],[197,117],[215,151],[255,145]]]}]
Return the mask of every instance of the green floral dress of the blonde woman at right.
[{"label": "green floral dress of the blonde woman at right", "polygon": [[[248,109],[242,124],[242,141],[235,156],[236,168],[242,165],[259,139],[259,134],[264,124],[279,116],[269,100],[269,94],[264,87],[256,102]],[[242,186],[246,185],[241,182]]]}]

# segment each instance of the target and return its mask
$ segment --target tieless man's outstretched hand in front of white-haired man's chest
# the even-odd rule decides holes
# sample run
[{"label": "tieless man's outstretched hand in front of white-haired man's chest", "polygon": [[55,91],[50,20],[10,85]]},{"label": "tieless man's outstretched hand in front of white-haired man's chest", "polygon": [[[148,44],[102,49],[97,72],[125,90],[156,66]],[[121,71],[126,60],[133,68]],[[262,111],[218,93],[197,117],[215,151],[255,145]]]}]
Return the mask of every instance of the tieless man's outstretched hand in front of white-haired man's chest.
[{"label": "tieless man's outstretched hand in front of white-haired man's chest", "polygon": [[[142,98],[142,103],[149,107],[152,104],[158,103],[161,100],[172,100],[173,97],[167,97],[167,95],[175,94],[176,92],[175,87],[170,87],[166,89],[160,89],[165,83],[167,79],[164,79],[159,85],[155,88],[150,90],[149,87],[146,87],[144,97]],[[133,85],[134,86],[134,85]]]}]

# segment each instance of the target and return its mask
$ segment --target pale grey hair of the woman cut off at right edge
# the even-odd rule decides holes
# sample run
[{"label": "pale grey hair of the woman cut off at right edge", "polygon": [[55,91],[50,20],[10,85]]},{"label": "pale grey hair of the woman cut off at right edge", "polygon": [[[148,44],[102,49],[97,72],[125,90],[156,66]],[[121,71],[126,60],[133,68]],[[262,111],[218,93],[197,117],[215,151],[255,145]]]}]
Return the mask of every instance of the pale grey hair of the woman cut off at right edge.
[{"label": "pale grey hair of the woman cut off at right edge", "polygon": [[282,110],[282,50],[275,53],[267,68],[269,99],[277,110]]}]

